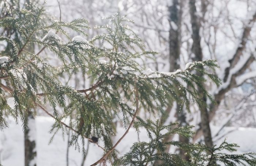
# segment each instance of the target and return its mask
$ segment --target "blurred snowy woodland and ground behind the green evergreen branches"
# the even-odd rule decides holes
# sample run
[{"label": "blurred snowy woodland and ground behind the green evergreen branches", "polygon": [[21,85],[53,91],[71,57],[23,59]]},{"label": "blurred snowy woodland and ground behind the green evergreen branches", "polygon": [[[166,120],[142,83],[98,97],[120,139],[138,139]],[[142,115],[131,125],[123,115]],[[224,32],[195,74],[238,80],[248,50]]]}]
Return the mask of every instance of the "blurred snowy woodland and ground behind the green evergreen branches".
[{"label": "blurred snowy woodland and ground behind the green evergreen branches", "polygon": [[[45,3],[40,0],[7,0],[7,2],[9,7],[14,10],[16,10],[16,8],[26,8],[26,4],[34,3],[37,6],[42,6]],[[2,19],[5,17],[6,12],[3,3],[0,3],[0,5],[0,19]],[[29,6],[27,7],[29,8]],[[45,9],[45,22],[47,22],[46,20],[59,20],[72,23],[72,20],[78,18],[85,18],[89,21],[87,23],[84,20],[76,20],[77,22],[74,24],[81,25],[82,27],[82,24],[86,22],[86,26],[88,25],[90,29],[78,30],[70,25],[64,26],[63,31],[69,33],[69,37],[72,41],[82,42],[81,45],[90,48],[90,53],[100,55],[95,63],[101,67],[103,66],[101,68],[103,71],[107,70],[104,64],[107,64],[112,55],[106,53],[106,56],[102,56],[102,54],[105,55],[105,52],[100,52],[96,48],[94,49],[91,41],[94,42],[95,47],[103,46],[103,48],[112,49],[111,45],[104,42],[104,40],[108,38],[104,38],[102,35],[106,30],[101,29],[101,27],[105,27],[108,31],[108,26],[101,25],[108,24],[109,22],[108,19],[103,18],[111,17],[117,12],[119,13],[118,15],[126,16],[128,19],[133,20],[133,22],[127,22],[127,24],[141,39],[138,39],[139,42],[141,41],[141,43],[144,44],[142,51],[152,50],[147,52],[147,54],[151,56],[145,56],[141,59],[138,55],[131,53],[134,59],[139,59],[137,61],[129,61],[129,59],[125,58],[122,59],[123,61],[127,61],[127,64],[130,63],[128,66],[134,65],[135,67],[135,65],[145,65],[145,69],[142,71],[146,73],[147,76],[154,75],[154,72],[159,72],[161,76],[168,75],[170,72],[176,73],[177,70],[201,67],[200,65],[210,67],[208,71],[218,76],[222,82],[220,85],[218,84],[218,79],[216,78],[217,80],[215,80],[215,78],[211,78],[211,75],[209,78],[206,77],[206,73],[200,72],[200,70],[191,71],[192,74],[206,79],[206,82],[200,84],[202,88],[197,88],[196,92],[199,94],[198,98],[206,103],[207,106],[200,106],[200,102],[196,101],[193,103],[191,101],[189,106],[185,107],[182,106],[182,102],[173,100],[168,101],[167,105],[162,105],[160,102],[161,104],[159,104],[157,108],[161,111],[155,114],[150,111],[145,111],[146,108],[151,108],[151,105],[147,105],[148,102],[145,102],[146,104],[143,109],[138,111],[138,116],[142,118],[142,120],[151,119],[152,122],[159,119],[165,125],[178,122],[179,127],[185,127],[187,125],[194,126],[192,130],[195,131],[195,133],[193,133],[191,138],[177,134],[167,135],[162,138],[165,142],[179,140],[186,144],[199,143],[206,145],[208,148],[213,148],[216,144],[219,146],[227,137],[228,143],[238,143],[240,146],[236,153],[256,152],[255,0],[48,0],[45,4]],[[48,29],[42,31],[41,38],[39,39],[41,43],[38,43],[43,45],[44,39],[47,40],[49,38],[50,41],[51,36],[68,41],[68,39],[65,38],[65,33],[61,31],[62,29],[57,25],[54,26],[52,26],[54,31],[49,31]],[[82,35],[83,32],[86,33],[85,36]],[[0,33],[3,35],[5,29],[1,27]],[[8,35],[11,38],[13,35],[12,31],[10,31]],[[128,34],[128,36],[129,35],[133,34]],[[98,40],[101,37],[103,40]],[[133,49],[131,45],[127,45],[129,49]],[[138,48],[140,48],[139,44]],[[49,51],[48,49],[41,49],[41,47],[36,45],[31,45],[28,49],[33,50],[31,52],[42,52],[44,54],[42,59],[47,61],[50,65],[61,65],[67,60],[63,58],[63,61],[61,61],[59,57],[53,56],[58,54],[58,49],[55,50],[51,48]],[[61,49],[65,50],[64,46]],[[4,50],[3,44],[0,45],[0,51],[2,50]],[[90,54],[87,50],[83,51]],[[121,48],[120,50],[116,49],[116,53],[118,53],[118,51],[123,51],[127,55],[130,53],[125,48]],[[142,53],[142,55],[144,55],[144,53]],[[208,59],[216,60],[216,64],[219,67],[215,68],[213,64],[208,64],[206,61]],[[78,61],[80,60],[83,61],[83,58],[78,59]],[[39,59],[37,61],[39,61]],[[89,67],[95,67],[94,57],[88,57],[85,61],[88,62]],[[206,64],[195,65],[192,63],[194,61],[204,61]],[[87,72],[83,70],[83,66],[76,69],[76,63],[75,61],[74,66],[72,66],[72,75],[69,75],[68,72],[63,72],[63,75],[59,78],[60,82],[65,84],[65,86],[81,90],[81,93],[87,94],[87,89],[93,87],[90,90],[94,90],[95,83],[97,85],[98,82],[97,80],[95,82],[95,78],[97,77],[95,73],[100,73],[100,71],[91,69]],[[116,67],[116,64],[112,65]],[[119,66],[122,67],[120,64]],[[70,69],[68,67],[68,65],[64,66],[63,71],[68,71]],[[133,69],[131,66],[130,68],[123,67],[118,72],[127,74],[127,72],[132,73],[133,70],[137,70],[137,68]],[[124,73],[124,71],[126,73]],[[113,71],[109,72],[113,75],[119,75],[119,73],[114,73]],[[10,89],[8,90],[7,86],[8,81],[5,82],[5,75],[1,73],[0,76],[1,88],[10,93]],[[29,75],[27,74],[27,76],[22,77],[23,79],[24,77],[29,78]],[[111,80],[111,74],[108,77],[110,77]],[[134,81],[132,77],[128,80],[131,81],[131,84],[132,81]],[[173,80],[171,79],[171,81]],[[22,85],[22,83],[20,84]],[[45,84],[53,84],[54,86],[54,82],[51,83],[50,80],[49,82],[45,82]],[[109,84],[114,84],[114,82],[110,82]],[[165,85],[165,83],[162,84]],[[198,86],[198,84],[196,85]],[[180,84],[178,84],[178,86],[182,87]],[[193,89],[193,84],[187,84],[187,88]],[[204,90],[208,91],[212,99],[211,97],[207,97],[207,95],[200,96],[200,94],[206,93]],[[102,96],[104,96],[103,90],[95,92],[95,95],[97,95],[96,98],[98,96],[100,98],[101,93]],[[135,96],[134,101],[136,102],[136,87],[135,91],[132,91],[132,93]],[[176,93],[176,91],[174,93]],[[147,95],[154,96],[153,94],[154,93],[148,93]],[[88,95],[89,97],[90,95],[93,97],[94,93]],[[118,93],[118,95],[120,95],[120,98],[129,98],[127,94],[124,95],[121,92]],[[57,97],[58,96],[56,96],[56,98]],[[95,99],[95,97],[93,98]],[[187,99],[187,97],[184,96],[183,98],[184,100]],[[195,96],[195,99],[196,98],[197,95]],[[153,99],[155,98],[153,97]],[[153,99],[151,98],[149,100]],[[24,125],[22,125],[22,123],[16,125],[15,119],[8,116],[7,122],[10,127],[0,132],[0,163],[3,166],[24,165],[24,161],[26,165],[26,161],[30,162],[30,160],[33,160],[30,156],[26,156],[26,150],[36,154],[36,163],[38,166],[87,166],[96,162],[101,158],[104,152],[106,152],[106,150],[102,151],[102,140],[98,140],[98,136],[91,137],[90,135],[89,140],[83,140],[74,135],[72,126],[78,125],[78,122],[74,122],[73,124],[71,121],[72,118],[76,118],[77,113],[74,111],[67,115],[61,112],[61,109],[63,109],[61,106],[56,106],[56,109],[55,107],[52,109],[53,102],[51,101],[53,100],[54,99],[51,100],[49,97],[49,103],[45,106],[38,105],[34,111],[36,113],[27,115],[28,117],[32,114],[35,116],[31,116],[32,124],[28,123],[27,125],[27,127],[30,128],[30,132],[25,132],[25,136],[22,131]],[[161,99],[156,97],[154,101],[157,103],[158,100],[161,101]],[[190,98],[189,100],[192,99]],[[145,97],[145,101],[147,101],[147,97]],[[107,105],[109,101],[106,100],[105,102]],[[7,103],[10,107],[15,107],[14,101],[11,101],[11,99],[7,99]],[[70,103],[70,108],[75,107],[76,101],[73,102],[71,100]],[[141,103],[143,102],[141,101]],[[135,110],[137,110],[138,105],[135,104],[133,106]],[[112,110],[113,108],[114,106],[110,106],[108,109]],[[132,113],[133,112],[127,114],[131,115]],[[63,119],[60,119],[69,127],[64,125],[63,130],[54,129],[54,127],[58,128],[58,124],[54,121],[54,118],[56,120],[57,117],[55,116],[56,114],[60,117],[63,116]],[[122,116],[118,113],[111,115],[117,117],[110,116],[113,122],[113,124],[111,124],[113,125],[112,129],[101,126],[101,128],[106,130],[104,131],[106,133],[116,132],[116,135],[104,137],[104,139],[108,139],[104,140],[104,145],[108,150],[112,147],[110,142],[113,144],[116,143],[129,127],[129,120],[133,121],[133,119],[129,117],[123,118],[122,120],[122,118],[118,118],[119,115]],[[97,116],[102,116],[104,120],[109,118],[109,114],[105,115],[99,113]],[[29,122],[31,122],[31,120]],[[106,120],[106,123],[107,122]],[[102,124],[95,122],[95,125],[100,126]],[[146,126],[146,124],[144,125]],[[150,122],[148,122],[147,125],[150,125]],[[137,127],[138,126],[143,127],[143,124],[137,124]],[[50,131],[52,133],[49,133]],[[94,132],[95,135],[97,135],[103,131]],[[136,129],[136,125],[135,127],[131,127],[124,139],[117,145],[116,149],[119,151],[117,155],[123,156],[130,150],[130,147],[135,142],[149,141],[150,138],[147,132],[148,129]],[[53,134],[55,135],[54,137],[52,137]],[[34,140],[34,142],[31,142],[31,137],[33,137],[32,140]],[[26,140],[28,141],[26,142]],[[49,142],[51,143],[48,144]],[[109,144],[106,145],[106,143]],[[78,145],[80,145],[79,149],[77,149]],[[24,146],[31,148],[25,148],[24,152]],[[185,161],[189,159],[186,150],[182,150],[180,147],[167,145],[164,151],[177,153]],[[114,155],[112,157],[115,158]],[[154,164],[158,164],[157,162],[158,161],[155,161]],[[109,165],[107,161],[102,162],[102,165],[104,164]]]}]

